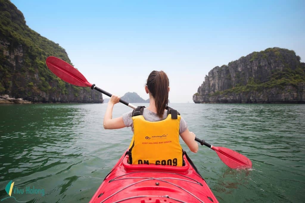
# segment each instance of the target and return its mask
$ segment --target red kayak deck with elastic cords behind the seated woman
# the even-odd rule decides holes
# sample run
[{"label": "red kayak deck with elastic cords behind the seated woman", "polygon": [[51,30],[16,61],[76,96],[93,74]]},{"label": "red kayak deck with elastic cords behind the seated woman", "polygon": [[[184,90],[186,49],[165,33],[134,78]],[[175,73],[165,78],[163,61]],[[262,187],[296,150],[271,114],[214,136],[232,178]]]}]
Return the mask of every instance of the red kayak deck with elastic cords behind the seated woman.
[{"label": "red kayak deck with elastic cords behind the seated woman", "polygon": [[123,154],[90,200],[93,202],[218,202],[187,154],[185,166],[132,165]]}]

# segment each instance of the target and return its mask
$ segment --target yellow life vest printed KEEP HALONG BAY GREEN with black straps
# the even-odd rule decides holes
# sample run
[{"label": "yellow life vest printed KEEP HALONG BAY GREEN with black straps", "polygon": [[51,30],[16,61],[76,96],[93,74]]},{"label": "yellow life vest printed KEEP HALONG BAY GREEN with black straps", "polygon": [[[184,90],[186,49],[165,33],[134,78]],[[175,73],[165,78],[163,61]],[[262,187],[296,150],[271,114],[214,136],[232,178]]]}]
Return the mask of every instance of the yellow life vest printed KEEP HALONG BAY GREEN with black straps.
[{"label": "yellow life vest printed KEEP HALONG BAY GREEN with black straps", "polygon": [[183,165],[183,150],[179,143],[180,114],[168,108],[162,121],[146,121],[144,107],[133,111],[134,136],[129,146],[129,163]]}]

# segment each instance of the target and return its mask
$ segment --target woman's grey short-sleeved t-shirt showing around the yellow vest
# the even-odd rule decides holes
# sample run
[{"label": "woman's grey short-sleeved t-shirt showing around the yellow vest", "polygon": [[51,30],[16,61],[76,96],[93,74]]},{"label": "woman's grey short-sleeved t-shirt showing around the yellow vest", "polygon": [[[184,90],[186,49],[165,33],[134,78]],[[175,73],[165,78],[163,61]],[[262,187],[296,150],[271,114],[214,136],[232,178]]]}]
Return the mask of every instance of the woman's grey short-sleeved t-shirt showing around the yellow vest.
[{"label": "woman's grey short-sleeved t-shirt showing around the yellow vest", "polygon": [[[124,121],[124,124],[125,124],[126,127],[131,127],[131,130],[133,132],[134,131],[133,130],[133,121],[132,121],[131,115],[132,115],[132,111],[123,114],[123,121]],[[147,108],[144,108],[144,110],[143,110],[143,117],[144,117],[144,119],[146,121],[162,121],[165,118],[167,118],[167,116],[168,116],[167,111],[164,112],[163,118],[160,119],[158,117],[158,114],[156,114],[154,112],[151,112]],[[188,124],[181,117],[181,119],[180,119],[180,127],[179,127],[179,134],[183,133],[187,128],[188,128]]]}]

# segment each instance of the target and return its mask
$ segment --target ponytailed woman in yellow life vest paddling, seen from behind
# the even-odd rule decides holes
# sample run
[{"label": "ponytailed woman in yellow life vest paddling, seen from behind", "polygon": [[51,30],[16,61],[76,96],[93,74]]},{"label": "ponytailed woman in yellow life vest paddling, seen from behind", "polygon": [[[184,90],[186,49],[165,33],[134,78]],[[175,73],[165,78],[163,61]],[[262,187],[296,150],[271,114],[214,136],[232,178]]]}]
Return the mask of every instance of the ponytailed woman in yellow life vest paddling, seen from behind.
[{"label": "ponytailed woman in yellow life vest paddling, seen from behind", "polygon": [[183,165],[183,150],[179,134],[192,152],[198,151],[195,134],[180,114],[167,106],[169,80],[165,72],[152,71],[147,79],[145,91],[149,94],[149,106],[123,114],[112,119],[114,104],[119,96],[112,95],[104,117],[105,129],[131,127],[134,132],[129,146],[129,163],[156,165]]}]

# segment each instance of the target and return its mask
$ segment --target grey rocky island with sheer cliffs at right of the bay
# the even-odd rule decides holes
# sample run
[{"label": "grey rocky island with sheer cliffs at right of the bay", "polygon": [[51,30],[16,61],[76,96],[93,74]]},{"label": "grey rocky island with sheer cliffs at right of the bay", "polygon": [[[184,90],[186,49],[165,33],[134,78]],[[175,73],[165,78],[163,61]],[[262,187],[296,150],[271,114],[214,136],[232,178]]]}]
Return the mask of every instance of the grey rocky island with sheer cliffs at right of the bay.
[{"label": "grey rocky island with sheer cliffs at right of the bay", "polygon": [[213,68],[195,103],[305,103],[305,64],[294,51],[268,48]]}]

